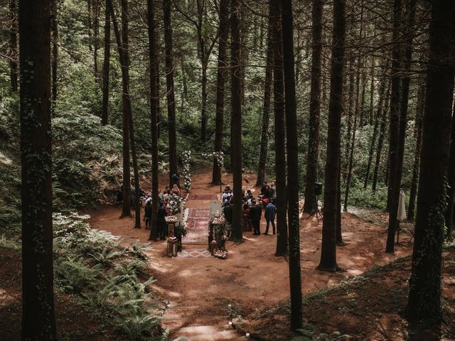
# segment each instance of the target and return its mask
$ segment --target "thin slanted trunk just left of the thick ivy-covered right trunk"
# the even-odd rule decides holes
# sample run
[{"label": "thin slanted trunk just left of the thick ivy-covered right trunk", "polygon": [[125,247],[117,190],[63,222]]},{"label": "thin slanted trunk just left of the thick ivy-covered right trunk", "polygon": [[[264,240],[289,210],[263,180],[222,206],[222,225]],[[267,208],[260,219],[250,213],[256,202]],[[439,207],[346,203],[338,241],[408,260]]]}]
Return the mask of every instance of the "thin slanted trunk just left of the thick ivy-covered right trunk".
[{"label": "thin slanted trunk just left of the thick ivy-covered right trunk", "polygon": [[415,143],[414,153],[414,166],[412,168],[412,181],[411,181],[411,192],[410,192],[410,203],[407,208],[407,220],[414,219],[414,208],[415,199],[417,196],[417,185],[419,183],[419,171],[420,171],[420,153],[422,151],[422,119],[424,117],[424,105],[425,105],[425,85],[422,83],[419,87],[419,93],[417,94],[417,108],[415,117],[415,135],[417,141]]}]

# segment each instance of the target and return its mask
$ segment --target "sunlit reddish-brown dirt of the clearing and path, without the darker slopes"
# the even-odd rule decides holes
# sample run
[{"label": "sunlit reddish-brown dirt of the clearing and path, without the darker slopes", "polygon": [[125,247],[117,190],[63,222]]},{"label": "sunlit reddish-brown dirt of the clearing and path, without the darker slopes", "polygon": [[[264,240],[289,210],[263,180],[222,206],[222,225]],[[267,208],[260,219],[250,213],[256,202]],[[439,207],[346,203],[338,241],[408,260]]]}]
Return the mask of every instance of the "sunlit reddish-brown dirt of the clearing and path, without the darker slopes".
[{"label": "sunlit reddish-brown dirt of the clearing and path, without the darker slopes", "polygon": [[[247,174],[250,183],[255,183]],[[163,179],[164,181],[164,179]],[[230,175],[223,181],[231,183]],[[219,193],[219,187],[208,185],[210,173],[193,176],[193,195]],[[161,182],[163,183],[163,182]],[[188,200],[186,207],[207,209],[209,200]],[[148,242],[149,230],[134,229],[134,219],[119,219],[120,208],[102,205],[90,211],[93,228],[105,229],[125,238]],[[304,216],[305,218],[306,216]],[[262,220],[261,230],[264,232]],[[412,252],[411,247],[397,247],[395,255],[385,254],[387,232],[384,227],[343,214],[342,229],[345,247],[338,247],[338,265],[346,272],[329,274],[316,270],[321,255],[322,223],[316,218],[301,220],[302,291],[304,294],[333,286],[357,276],[371,267],[386,264]],[[156,274],[156,291],[169,301],[164,313],[164,326],[171,336],[189,336],[188,340],[242,340],[228,326],[228,305],[242,316],[254,314],[258,308],[275,305],[289,298],[287,261],[274,256],[274,235],[253,236],[244,232],[245,242],[228,242],[228,259],[170,258],[166,242],[153,242],[149,251],[150,267]],[[409,236],[402,236],[402,240]],[[200,250],[200,245],[184,245],[187,251]]]}]

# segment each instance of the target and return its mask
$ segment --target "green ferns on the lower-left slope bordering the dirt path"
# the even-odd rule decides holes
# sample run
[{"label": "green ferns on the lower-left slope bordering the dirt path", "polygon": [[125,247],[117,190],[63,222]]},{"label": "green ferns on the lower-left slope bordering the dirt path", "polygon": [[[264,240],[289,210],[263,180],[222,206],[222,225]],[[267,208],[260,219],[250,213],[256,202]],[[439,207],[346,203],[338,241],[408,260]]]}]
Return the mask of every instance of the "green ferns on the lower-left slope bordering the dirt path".
[{"label": "green ferns on the lower-left slope bordering the dirt path", "polygon": [[125,340],[161,335],[160,320],[149,313],[154,278],[147,276],[149,244],[122,247],[122,240],[90,229],[88,216],[54,215],[55,278],[63,290],[108,314]]}]

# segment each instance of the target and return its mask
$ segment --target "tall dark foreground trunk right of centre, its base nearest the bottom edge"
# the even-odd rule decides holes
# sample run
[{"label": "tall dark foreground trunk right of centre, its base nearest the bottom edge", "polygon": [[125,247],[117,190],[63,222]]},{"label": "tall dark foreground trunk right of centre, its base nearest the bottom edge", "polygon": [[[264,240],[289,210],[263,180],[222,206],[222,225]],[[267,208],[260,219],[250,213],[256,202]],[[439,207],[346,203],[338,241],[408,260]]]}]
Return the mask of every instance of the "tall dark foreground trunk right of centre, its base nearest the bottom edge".
[{"label": "tall dark foreground trunk right of centre, its base nearest the bottom edge", "polygon": [[284,94],[287,134],[289,283],[291,288],[291,330],[302,328],[301,267],[299,228],[299,144],[297,139],[296,84],[294,71],[294,25],[292,1],[282,0]]}]

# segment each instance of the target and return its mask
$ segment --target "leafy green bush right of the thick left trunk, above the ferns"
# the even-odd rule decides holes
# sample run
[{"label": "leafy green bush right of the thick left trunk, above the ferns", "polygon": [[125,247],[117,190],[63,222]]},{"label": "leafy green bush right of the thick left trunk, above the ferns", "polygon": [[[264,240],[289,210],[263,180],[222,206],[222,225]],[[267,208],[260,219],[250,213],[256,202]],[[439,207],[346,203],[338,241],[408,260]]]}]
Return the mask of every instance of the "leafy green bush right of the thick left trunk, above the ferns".
[{"label": "leafy green bush right of the thick left trunk, above the ferns", "polygon": [[82,207],[119,188],[122,136],[87,109],[53,119],[53,190],[58,210]]}]

